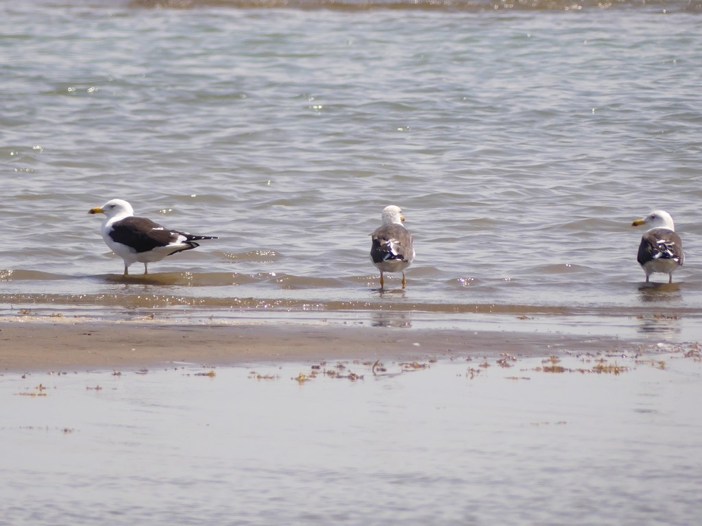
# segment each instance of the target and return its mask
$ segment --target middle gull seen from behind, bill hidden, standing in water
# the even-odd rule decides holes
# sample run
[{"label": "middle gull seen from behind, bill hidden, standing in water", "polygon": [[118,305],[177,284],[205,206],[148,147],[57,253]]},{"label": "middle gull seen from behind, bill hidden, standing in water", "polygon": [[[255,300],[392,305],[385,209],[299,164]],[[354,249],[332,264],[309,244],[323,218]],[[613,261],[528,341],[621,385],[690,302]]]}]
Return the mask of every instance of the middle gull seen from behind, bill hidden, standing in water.
[{"label": "middle gull seen from behind, bill hidden, standing in water", "polygon": [[371,234],[371,261],[380,271],[380,288],[384,272],[402,272],[402,288],[405,288],[404,271],[414,259],[412,235],[402,224],[404,215],[399,206],[386,206],[381,217],[383,225]]}]

